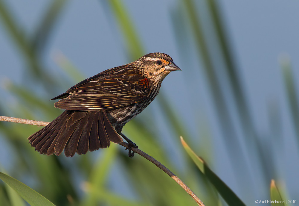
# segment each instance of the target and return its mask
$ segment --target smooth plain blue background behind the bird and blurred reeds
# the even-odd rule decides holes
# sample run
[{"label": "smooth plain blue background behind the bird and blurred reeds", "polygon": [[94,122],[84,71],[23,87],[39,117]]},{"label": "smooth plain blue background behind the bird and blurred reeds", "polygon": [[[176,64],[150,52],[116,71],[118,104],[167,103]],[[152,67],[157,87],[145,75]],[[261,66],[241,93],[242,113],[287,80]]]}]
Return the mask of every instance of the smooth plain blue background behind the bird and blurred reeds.
[{"label": "smooth plain blue background behind the bird and blurred reeds", "polygon": [[[269,136],[272,134],[269,124],[269,110],[274,108],[280,114],[282,128],[281,144],[275,143],[271,136],[265,140],[265,146],[273,144],[276,148],[275,168],[281,177],[278,182],[287,190],[289,199],[298,197],[298,171],[299,154],[298,144],[295,140],[295,133],[291,126],[291,118],[286,102],[286,93],[283,84],[281,62],[290,60],[294,78],[299,76],[299,27],[298,27],[298,8],[299,1],[219,1],[225,27],[230,37],[235,60],[237,60],[238,72],[242,79],[245,96],[249,103],[251,117],[258,132]],[[39,23],[45,7],[49,1],[7,1],[7,4],[13,10],[20,25],[26,31],[34,31]],[[214,171],[234,191],[238,191],[238,180],[234,178],[232,168],[227,166],[229,157],[224,148],[225,137],[219,132],[217,117],[213,111],[213,103],[209,95],[209,88],[206,84],[206,77],[202,72],[202,63],[195,54],[196,49],[192,43],[192,34],[184,36],[184,41],[177,43],[178,29],[174,25],[171,16],[179,15],[181,4],[179,1],[124,1],[126,9],[135,28],[140,36],[146,53],[164,52],[169,54],[174,62],[182,69],[181,72],[172,72],[164,80],[160,95],[165,95],[172,103],[171,107],[177,110],[178,116],[190,125],[190,133],[200,144],[200,134],[198,122],[208,122],[211,140],[211,155],[213,161],[211,166]],[[204,6],[199,2],[198,8],[201,15],[205,15]],[[206,34],[210,35],[210,45],[213,45],[213,32],[209,26],[209,20],[203,22]],[[188,25],[185,25],[188,26]],[[184,28],[181,28],[184,29]],[[0,21],[0,95],[2,105],[13,104],[16,99],[5,89],[5,82],[26,84],[25,65],[18,49],[12,43],[8,34],[4,31],[3,24]],[[180,47],[183,46],[184,48]],[[43,58],[49,72],[63,75],[60,66],[57,63],[57,57],[64,55],[70,60],[78,70],[84,75],[84,78],[93,76],[105,69],[123,65],[130,62],[126,54],[126,43],[119,32],[117,23],[109,11],[105,1],[69,1],[51,40],[45,49]],[[215,56],[219,55],[217,50],[211,49]],[[222,62],[214,62],[221,68]],[[219,70],[221,78],[221,71]],[[76,82],[66,84],[64,88],[57,91],[56,95],[65,92]],[[226,90],[223,83],[223,90]],[[194,90],[194,95],[193,95]],[[297,90],[299,91],[299,90]],[[53,96],[50,93],[41,94],[46,99]],[[230,102],[230,95],[226,96]],[[163,118],[159,116],[157,108],[158,102],[152,102],[144,113],[153,113],[156,117],[157,127],[161,136],[166,140],[172,137],[170,131],[164,131]],[[273,107],[272,107],[273,106]],[[230,107],[234,107],[230,104]],[[231,115],[234,117],[232,109]],[[144,115],[146,117],[146,115]],[[234,124],[238,125],[237,119]],[[44,120],[44,119],[43,119]],[[50,121],[50,120],[47,120]],[[242,138],[242,137],[240,137]],[[269,142],[270,140],[270,142]],[[273,142],[271,141],[273,140]],[[179,146],[179,138],[173,140],[174,146],[167,148],[173,155],[173,161],[178,160],[177,166],[180,167],[179,153],[176,153],[176,147]],[[263,140],[262,140],[263,142]],[[1,143],[1,138],[0,138]],[[243,142],[244,143],[244,142]],[[200,154],[200,151],[194,145],[193,148]],[[1,152],[2,151],[2,152]],[[5,151],[5,152],[4,152]],[[3,157],[6,151],[0,145],[0,155]],[[251,156],[247,155],[246,160],[250,162]],[[9,167],[5,159],[0,158],[1,165]],[[251,175],[255,176],[253,166]],[[235,168],[236,169],[236,168]],[[251,183],[254,190],[252,199],[265,199],[268,193],[267,188],[260,187],[258,181]],[[269,182],[270,184],[270,182]],[[252,200],[252,201],[254,201]],[[299,201],[299,200],[298,200]]]}]

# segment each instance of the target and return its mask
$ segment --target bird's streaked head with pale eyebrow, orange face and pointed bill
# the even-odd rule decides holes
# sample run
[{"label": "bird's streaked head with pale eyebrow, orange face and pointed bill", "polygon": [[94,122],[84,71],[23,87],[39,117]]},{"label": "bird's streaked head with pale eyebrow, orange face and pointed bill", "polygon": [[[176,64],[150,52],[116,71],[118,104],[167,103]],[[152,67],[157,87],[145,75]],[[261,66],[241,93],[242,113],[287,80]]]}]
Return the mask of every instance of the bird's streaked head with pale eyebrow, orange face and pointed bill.
[{"label": "bird's streaked head with pale eyebrow, orange face and pointed bill", "polygon": [[156,84],[161,84],[171,71],[181,70],[173,63],[172,58],[164,53],[150,53],[140,57],[136,62],[142,64],[145,76]]}]

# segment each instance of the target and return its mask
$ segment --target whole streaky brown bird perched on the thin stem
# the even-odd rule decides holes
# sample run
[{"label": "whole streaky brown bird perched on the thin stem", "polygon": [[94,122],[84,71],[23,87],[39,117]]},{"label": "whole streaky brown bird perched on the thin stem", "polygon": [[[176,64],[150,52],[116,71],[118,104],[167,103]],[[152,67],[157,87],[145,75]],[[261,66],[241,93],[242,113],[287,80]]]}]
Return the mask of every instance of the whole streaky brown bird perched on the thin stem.
[{"label": "whole streaky brown bird perched on the thin stem", "polygon": [[[144,110],[157,96],[163,79],[181,70],[163,53],[150,53],[138,60],[81,81],[51,100],[65,111],[47,126],[28,137],[41,154],[82,155],[109,147],[110,141],[137,147],[121,133],[123,126]],[[119,136],[120,135],[120,136]]]}]

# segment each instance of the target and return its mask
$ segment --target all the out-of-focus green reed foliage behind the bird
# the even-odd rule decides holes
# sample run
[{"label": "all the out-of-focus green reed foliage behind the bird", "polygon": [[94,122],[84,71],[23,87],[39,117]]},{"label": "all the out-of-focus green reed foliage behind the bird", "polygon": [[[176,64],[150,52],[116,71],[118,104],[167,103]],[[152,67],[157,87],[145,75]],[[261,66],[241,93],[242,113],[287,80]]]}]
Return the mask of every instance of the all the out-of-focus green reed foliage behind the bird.
[{"label": "all the out-of-focus green reed foliage behind the bird", "polygon": [[[11,37],[11,42],[24,57],[26,81],[31,82],[26,84],[27,86],[16,83],[13,79],[7,82],[7,90],[16,97],[18,102],[14,105],[3,105],[0,102],[1,115],[50,121],[61,113],[60,110],[53,107],[53,102],[49,102],[48,99],[57,96],[58,88],[65,88],[65,78],[63,75],[49,72],[43,62],[42,54],[47,48],[53,28],[60,21],[60,15],[69,6],[67,3],[70,2],[66,0],[49,1],[49,6],[40,16],[40,24],[35,31],[25,31],[13,16],[13,12],[6,2],[0,1],[0,19],[3,28]],[[131,21],[125,3],[125,1],[117,0],[107,1],[109,11],[115,18],[114,23],[118,25],[123,40],[126,42],[127,50],[125,52],[128,54],[128,61],[130,61],[144,55],[146,49],[142,45],[138,30]],[[207,37],[204,32],[203,19],[200,18],[202,15],[197,9],[199,7],[198,2],[185,0],[178,1],[177,4],[177,10],[173,11],[171,18],[173,19],[174,31],[176,31],[177,44],[182,51],[182,58],[184,58],[184,53],[188,51],[184,44],[185,36],[192,34],[190,41],[197,50],[196,57],[203,65],[203,73],[207,78],[206,83],[210,90],[213,110],[215,110],[221,133],[225,137],[223,142],[231,160],[227,166],[232,168],[231,171],[234,172],[237,180],[239,190],[234,192],[246,205],[252,205],[256,199],[252,195],[254,191],[253,182],[256,183],[256,176],[250,173],[251,165],[259,168],[256,172],[262,181],[257,184],[261,184],[261,188],[269,188],[269,182],[273,175],[275,178],[279,178],[273,160],[275,149],[270,144],[265,149],[262,135],[257,132],[251,119],[246,93],[243,89],[244,85],[242,85],[237,69],[237,60],[233,55],[234,52],[231,49],[217,1],[202,1],[202,5],[206,9],[207,16],[205,18],[209,18],[212,23],[210,26],[214,31],[212,36],[215,38],[213,42],[216,43],[213,45],[209,44],[211,40],[208,39],[212,37]],[[99,4],[99,6],[101,5]],[[219,51],[220,56],[212,55],[211,48]],[[213,63],[219,59],[224,62],[221,69],[216,68]],[[64,72],[70,77],[67,80],[70,83],[68,86],[84,78],[83,76],[80,77],[80,72],[72,66],[67,58],[60,58],[58,63],[63,69],[62,73]],[[294,86],[296,79],[292,78],[289,65],[284,65],[283,68],[285,68],[283,79],[285,80],[287,99],[293,118],[293,128],[299,139],[299,127],[296,126],[299,116],[298,92]],[[227,86],[226,91],[223,90],[223,85]],[[47,88],[47,92],[45,92],[45,88]],[[47,93],[50,98],[39,96],[37,93],[40,93],[41,90],[42,93]],[[194,95],[196,90],[191,92],[190,95]],[[231,97],[230,101],[227,101],[227,93]],[[168,123],[165,130],[172,131],[174,138],[184,136],[190,145],[198,143],[196,140],[199,138],[202,139],[204,144],[198,146],[202,149],[199,155],[207,160],[213,168],[216,163],[213,162],[213,156],[210,152],[212,143],[210,142],[211,134],[208,132],[209,126],[206,127],[208,123],[198,125],[199,128],[204,128],[205,133],[198,134],[198,137],[192,137],[189,132],[190,126],[181,121],[176,112],[178,108],[175,108],[164,95],[160,94],[157,99],[163,118]],[[231,111],[228,102],[234,105],[233,111]],[[239,122],[238,132],[243,137],[242,139],[237,135],[232,112]],[[150,114],[147,117],[149,120],[151,119]],[[135,119],[137,121],[129,122],[124,131],[128,137],[134,137],[132,138],[134,142],[142,145],[140,149],[178,175],[206,205],[226,204],[208,181],[208,178],[205,177],[205,174],[198,172],[183,149],[178,149],[178,152],[183,159],[184,165],[182,167],[184,169],[177,168],[170,160],[171,155],[167,154],[167,149],[165,149],[167,146],[159,144],[156,138],[158,132],[152,130],[153,126],[149,126],[155,125],[154,121],[148,121],[145,124],[142,119],[138,119],[138,117]],[[275,123],[270,122],[270,124],[273,124],[273,128],[277,128]],[[75,155],[71,159],[63,155],[60,157],[39,155],[38,152],[34,151],[34,148],[28,146],[27,140],[27,137],[38,129],[31,125],[0,122],[2,137],[11,147],[11,153],[14,154],[7,157],[13,165],[13,169],[7,169],[7,171],[11,177],[30,186],[57,206],[196,205],[193,199],[160,169],[138,155],[133,159],[128,158],[127,153],[118,145],[112,145],[109,149],[103,149],[100,152],[88,152],[81,156]],[[193,149],[195,147],[196,145],[192,145]],[[249,160],[247,157],[250,157]],[[225,183],[230,185],[230,182]],[[117,189],[115,185],[117,185]],[[270,198],[268,191],[265,193]],[[13,198],[14,195],[16,194],[13,194],[4,184],[0,184],[0,205],[19,204],[16,202],[21,200]]]}]

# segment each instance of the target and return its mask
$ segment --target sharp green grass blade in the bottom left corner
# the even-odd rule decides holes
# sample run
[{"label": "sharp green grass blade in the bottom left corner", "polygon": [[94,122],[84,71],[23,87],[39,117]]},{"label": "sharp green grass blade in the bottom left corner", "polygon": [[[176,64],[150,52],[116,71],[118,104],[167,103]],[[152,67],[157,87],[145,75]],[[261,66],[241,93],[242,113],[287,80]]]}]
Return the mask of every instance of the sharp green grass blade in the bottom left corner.
[{"label": "sharp green grass blade in the bottom left corner", "polygon": [[12,178],[4,173],[0,172],[0,179],[4,181],[7,185],[13,188],[22,198],[24,198],[31,206],[55,206],[44,196],[40,195],[27,185],[22,182]]}]

